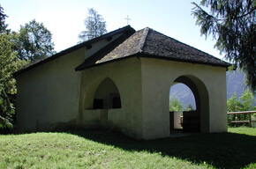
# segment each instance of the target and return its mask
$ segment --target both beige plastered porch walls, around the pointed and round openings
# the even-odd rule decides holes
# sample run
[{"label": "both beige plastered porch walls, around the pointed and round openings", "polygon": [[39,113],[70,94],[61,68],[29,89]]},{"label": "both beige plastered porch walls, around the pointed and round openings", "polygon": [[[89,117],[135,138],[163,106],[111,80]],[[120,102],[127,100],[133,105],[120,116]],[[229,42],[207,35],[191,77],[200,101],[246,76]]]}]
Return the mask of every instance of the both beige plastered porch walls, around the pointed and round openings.
[{"label": "both beige plastered porch walls, around the pointed and round openings", "polygon": [[[177,77],[188,77],[200,95],[200,130],[226,132],[226,69],[210,65],[133,57],[82,72],[79,124],[118,129],[137,139],[169,136],[169,90]],[[122,107],[94,110],[102,81],[117,85]]]}]

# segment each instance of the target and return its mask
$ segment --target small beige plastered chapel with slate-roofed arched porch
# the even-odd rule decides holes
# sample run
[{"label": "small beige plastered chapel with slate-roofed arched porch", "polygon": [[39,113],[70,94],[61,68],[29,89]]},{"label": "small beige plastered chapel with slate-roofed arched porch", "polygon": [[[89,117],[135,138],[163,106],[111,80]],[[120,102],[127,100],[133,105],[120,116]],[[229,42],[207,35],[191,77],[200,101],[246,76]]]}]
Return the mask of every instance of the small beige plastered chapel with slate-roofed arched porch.
[{"label": "small beige plastered chapel with slate-roofed arched porch", "polygon": [[[20,131],[115,129],[139,140],[168,137],[169,90],[187,85],[196,111],[184,129],[227,131],[230,63],[151,28],[125,26],[17,71]],[[195,128],[196,126],[196,128]]]}]

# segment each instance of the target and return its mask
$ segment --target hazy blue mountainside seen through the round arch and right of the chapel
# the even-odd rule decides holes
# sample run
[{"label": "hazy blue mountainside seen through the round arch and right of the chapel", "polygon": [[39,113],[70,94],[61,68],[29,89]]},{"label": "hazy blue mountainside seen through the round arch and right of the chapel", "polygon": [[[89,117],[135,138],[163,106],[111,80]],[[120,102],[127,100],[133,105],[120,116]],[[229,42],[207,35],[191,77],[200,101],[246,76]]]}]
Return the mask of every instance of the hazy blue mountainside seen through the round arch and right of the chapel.
[{"label": "hazy blue mountainside seen through the round arch and right of the chapel", "polygon": [[[240,71],[227,71],[227,99],[237,92],[237,98],[244,92],[244,77],[245,74]],[[173,95],[176,99],[179,99],[184,107],[191,104],[195,107],[195,100],[192,91],[184,84],[173,85],[169,91],[169,96]]]}]

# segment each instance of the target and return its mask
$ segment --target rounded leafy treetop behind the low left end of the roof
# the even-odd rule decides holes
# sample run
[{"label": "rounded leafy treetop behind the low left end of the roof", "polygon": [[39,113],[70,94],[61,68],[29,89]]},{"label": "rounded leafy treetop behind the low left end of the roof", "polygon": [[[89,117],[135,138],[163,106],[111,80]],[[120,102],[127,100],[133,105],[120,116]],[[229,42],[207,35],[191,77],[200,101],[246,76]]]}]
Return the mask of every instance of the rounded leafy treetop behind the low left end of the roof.
[{"label": "rounded leafy treetop behind the low left end of the roof", "polygon": [[52,34],[35,19],[25,26],[20,26],[18,36],[15,49],[21,60],[34,61],[55,54]]}]

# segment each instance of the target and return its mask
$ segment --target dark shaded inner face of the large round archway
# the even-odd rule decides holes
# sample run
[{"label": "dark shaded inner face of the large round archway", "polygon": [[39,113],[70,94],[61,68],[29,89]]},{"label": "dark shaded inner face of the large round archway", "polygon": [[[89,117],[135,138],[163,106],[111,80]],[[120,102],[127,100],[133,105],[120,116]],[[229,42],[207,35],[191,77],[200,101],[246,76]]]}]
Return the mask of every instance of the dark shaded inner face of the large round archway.
[{"label": "dark shaded inner face of the large round archway", "polygon": [[[200,80],[199,77],[195,77],[192,75],[177,77],[172,82],[171,86],[177,83],[182,83],[188,86],[191,89],[196,102],[196,112],[194,112],[194,116],[188,117],[188,115],[186,115],[187,117],[185,117],[184,114],[184,122],[190,123],[188,124],[187,128],[189,128],[190,125],[192,128],[192,125],[194,125],[195,130],[197,130],[196,128],[198,128],[198,132],[209,132],[209,96],[206,85]],[[193,118],[194,120],[192,120]],[[193,122],[195,124],[192,124]],[[190,131],[190,129],[188,130]]]}]

